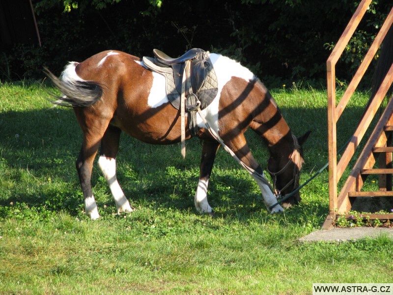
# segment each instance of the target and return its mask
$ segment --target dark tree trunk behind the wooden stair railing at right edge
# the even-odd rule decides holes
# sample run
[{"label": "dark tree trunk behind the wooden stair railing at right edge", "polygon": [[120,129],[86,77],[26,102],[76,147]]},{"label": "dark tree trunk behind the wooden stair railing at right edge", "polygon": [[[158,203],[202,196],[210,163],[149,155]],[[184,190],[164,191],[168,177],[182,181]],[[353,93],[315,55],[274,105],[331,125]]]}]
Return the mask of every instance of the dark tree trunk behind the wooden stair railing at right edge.
[{"label": "dark tree trunk behind the wooden stair railing at right edge", "polygon": [[[382,84],[386,74],[393,63],[393,26],[389,29],[385,36],[384,43],[381,48],[381,54],[379,55],[377,64],[375,66],[375,72],[371,80],[371,95],[368,101],[367,107],[370,104],[372,98],[374,98],[379,87]],[[388,96],[392,94],[392,88],[388,91]]]}]

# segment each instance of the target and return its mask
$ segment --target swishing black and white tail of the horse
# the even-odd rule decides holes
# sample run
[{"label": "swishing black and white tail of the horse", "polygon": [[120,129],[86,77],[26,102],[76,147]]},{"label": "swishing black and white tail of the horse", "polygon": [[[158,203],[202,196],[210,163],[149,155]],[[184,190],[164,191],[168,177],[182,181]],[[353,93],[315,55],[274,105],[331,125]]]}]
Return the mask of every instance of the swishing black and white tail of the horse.
[{"label": "swishing black and white tail of the horse", "polygon": [[61,73],[60,79],[52,74],[47,68],[45,74],[61,91],[61,96],[48,91],[53,104],[68,107],[88,107],[96,103],[102,96],[102,86],[95,81],[85,81],[80,78],[75,68],[78,62],[70,62]]}]

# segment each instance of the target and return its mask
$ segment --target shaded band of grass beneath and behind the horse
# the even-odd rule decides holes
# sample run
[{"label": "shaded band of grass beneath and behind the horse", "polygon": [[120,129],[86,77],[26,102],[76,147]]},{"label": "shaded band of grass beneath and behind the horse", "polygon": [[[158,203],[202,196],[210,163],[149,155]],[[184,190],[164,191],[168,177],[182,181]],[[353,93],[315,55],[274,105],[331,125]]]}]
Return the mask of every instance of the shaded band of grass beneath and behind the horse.
[{"label": "shaded band of grass beneath and behind the horse", "polygon": [[[363,113],[363,109],[357,108],[348,111],[346,127],[338,131],[339,141],[343,143],[353,131],[348,126],[356,126],[357,118]],[[327,161],[326,110],[291,108],[281,112],[296,135],[313,132],[304,147],[307,162],[304,171],[321,167]],[[266,167],[266,148],[262,148],[254,133],[248,131],[246,137],[255,158]],[[79,214],[83,202],[74,163],[81,141],[82,132],[71,109],[0,114],[0,206],[19,202]],[[137,205],[194,211],[201,153],[198,139],[187,142],[187,153],[183,160],[179,145],[146,145],[122,136],[117,176],[126,196]],[[109,188],[100,175],[95,165],[92,184],[97,203],[114,207]],[[220,217],[241,221],[255,214],[268,214],[252,178],[240,171],[238,164],[222,149],[213,168],[208,196]],[[311,212],[326,215],[328,208],[309,202],[308,206],[286,212],[287,216],[296,218]]]}]

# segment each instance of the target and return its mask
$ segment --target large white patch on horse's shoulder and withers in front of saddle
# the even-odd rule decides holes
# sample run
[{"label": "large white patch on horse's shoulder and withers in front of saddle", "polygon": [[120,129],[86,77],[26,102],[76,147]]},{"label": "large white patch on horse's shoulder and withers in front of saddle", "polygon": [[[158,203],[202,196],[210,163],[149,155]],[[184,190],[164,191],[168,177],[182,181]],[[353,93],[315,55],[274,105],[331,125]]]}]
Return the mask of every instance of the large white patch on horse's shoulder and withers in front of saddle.
[{"label": "large white patch on horse's shoulder and withers in front of saddle", "polygon": [[[255,79],[255,75],[246,67],[242,66],[239,62],[224,57],[219,54],[210,54],[210,60],[213,64],[214,71],[216,72],[218,80],[218,93],[211,104],[204,110],[202,110],[202,115],[206,118],[210,127],[218,133],[218,113],[219,113],[219,103],[221,91],[223,90],[225,84],[232,78],[238,77],[246,81],[251,81]],[[202,119],[197,116],[197,125],[199,127],[205,127]]]}]

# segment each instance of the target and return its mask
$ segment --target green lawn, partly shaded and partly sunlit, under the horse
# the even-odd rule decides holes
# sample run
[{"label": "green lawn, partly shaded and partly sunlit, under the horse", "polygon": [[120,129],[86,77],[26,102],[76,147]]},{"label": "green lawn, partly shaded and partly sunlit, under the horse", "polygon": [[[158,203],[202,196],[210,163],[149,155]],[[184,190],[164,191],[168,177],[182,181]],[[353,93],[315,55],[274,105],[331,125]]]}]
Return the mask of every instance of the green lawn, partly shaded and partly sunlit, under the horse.
[{"label": "green lawn, partly shaded and partly sunlit, under the horse", "polygon": [[[312,130],[301,182],[327,161],[326,93],[272,91],[295,134]],[[386,283],[393,241],[300,244],[328,213],[328,173],[301,205],[270,215],[257,185],[222,149],[209,187],[214,218],[194,209],[201,145],[149,146],[123,136],[118,179],[138,210],[117,215],[93,171],[101,218],[83,213],[74,168],[81,131],[73,112],[50,108],[38,84],[0,87],[0,294],[310,294],[312,283]],[[367,94],[348,107],[346,142]],[[354,127],[352,128],[354,129]],[[251,132],[255,158],[268,153]]]}]

